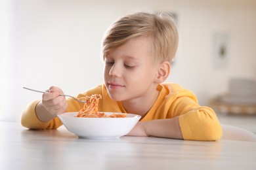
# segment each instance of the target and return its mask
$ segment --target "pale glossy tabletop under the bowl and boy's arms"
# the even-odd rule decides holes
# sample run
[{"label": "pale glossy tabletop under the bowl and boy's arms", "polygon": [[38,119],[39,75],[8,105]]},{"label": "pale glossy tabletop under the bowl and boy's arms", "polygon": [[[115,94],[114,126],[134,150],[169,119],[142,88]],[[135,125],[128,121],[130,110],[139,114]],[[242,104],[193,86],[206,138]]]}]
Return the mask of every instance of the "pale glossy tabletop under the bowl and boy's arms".
[{"label": "pale glossy tabletop under the bowl and boy's arms", "polygon": [[256,169],[256,143],[155,137],[79,139],[65,127],[0,122],[0,169]]}]

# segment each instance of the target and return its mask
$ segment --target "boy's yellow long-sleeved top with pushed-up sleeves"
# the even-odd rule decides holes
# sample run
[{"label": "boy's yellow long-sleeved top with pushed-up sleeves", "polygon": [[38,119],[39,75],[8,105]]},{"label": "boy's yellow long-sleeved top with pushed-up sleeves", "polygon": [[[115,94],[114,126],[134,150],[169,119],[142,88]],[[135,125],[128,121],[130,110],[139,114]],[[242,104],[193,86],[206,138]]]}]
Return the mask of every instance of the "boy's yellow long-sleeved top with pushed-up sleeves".
[{"label": "boy's yellow long-sleeved top with pushed-up sleeves", "polygon": [[[148,111],[146,116],[140,121],[155,119],[167,119],[179,116],[179,124],[182,136],[186,140],[216,141],[221,138],[221,124],[215,112],[209,107],[201,107],[194,93],[179,86],[178,84],[159,84],[160,94],[156,103]],[[104,84],[96,86],[87,92],[79,94],[77,97],[100,94],[98,110],[100,112],[125,112],[121,102],[110,99]],[[30,129],[56,129],[62,126],[58,117],[49,122],[41,122],[36,114],[35,107],[40,100],[32,101],[22,112],[22,126]],[[66,112],[75,112],[83,107],[72,98],[68,98],[68,109]]]}]

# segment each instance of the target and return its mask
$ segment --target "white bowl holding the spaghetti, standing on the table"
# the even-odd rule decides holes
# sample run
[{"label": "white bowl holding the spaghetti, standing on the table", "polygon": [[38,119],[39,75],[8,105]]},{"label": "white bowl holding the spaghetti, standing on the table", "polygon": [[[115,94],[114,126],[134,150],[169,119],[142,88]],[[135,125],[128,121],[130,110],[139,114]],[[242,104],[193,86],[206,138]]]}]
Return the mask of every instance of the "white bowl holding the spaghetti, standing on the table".
[{"label": "white bowl holding the spaghetti, standing on the table", "polygon": [[58,118],[68,131],[81,138],[93,139],[113,139],[126,135],[141,118],[140,115],[128,113],[126,118],[77,118],[76,115],[77,112],[65,112],[59,114]]}]

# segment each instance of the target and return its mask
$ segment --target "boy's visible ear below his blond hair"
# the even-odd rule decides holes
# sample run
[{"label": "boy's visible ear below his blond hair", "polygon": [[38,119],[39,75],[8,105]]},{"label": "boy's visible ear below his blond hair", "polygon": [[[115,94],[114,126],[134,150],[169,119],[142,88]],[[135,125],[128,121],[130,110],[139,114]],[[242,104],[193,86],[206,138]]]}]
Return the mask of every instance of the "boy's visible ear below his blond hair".
[{"label": "boy's visible ear below his blond hair", "polygon": [[156,82],[158,84],[164,82],[171,73],[171,64],[168,61],[163,61],[158,67],[158,73],[156,76]]}]

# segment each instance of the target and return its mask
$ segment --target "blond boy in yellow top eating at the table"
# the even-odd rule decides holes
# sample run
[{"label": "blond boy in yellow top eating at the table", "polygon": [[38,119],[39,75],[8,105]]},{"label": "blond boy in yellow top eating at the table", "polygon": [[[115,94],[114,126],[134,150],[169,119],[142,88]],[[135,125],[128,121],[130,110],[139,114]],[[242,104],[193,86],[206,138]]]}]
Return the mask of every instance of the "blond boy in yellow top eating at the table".
[{"label": "blond boy in yellow top eating at the table", "polygon": [[[102,42],[104,84],[77,97],[100,94],[99,111],[142,116],[127,135],[220,139],[221,125],[212,109],[198,105],[196,96],[178,84],[163,83],[177,46],[177,28],[167,14],[137,12],[120,18]],[[56,129],[62,125],[57,114],[83,107],[83,103],[59,96],[61,93],[52,86],[41,101],[33,101],[22,113],[22,125]]]}]

